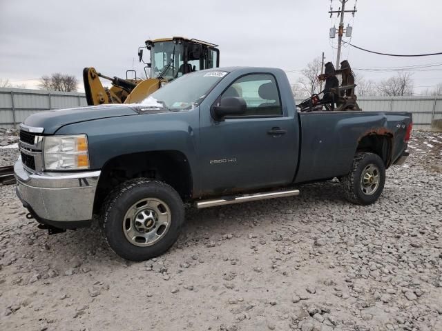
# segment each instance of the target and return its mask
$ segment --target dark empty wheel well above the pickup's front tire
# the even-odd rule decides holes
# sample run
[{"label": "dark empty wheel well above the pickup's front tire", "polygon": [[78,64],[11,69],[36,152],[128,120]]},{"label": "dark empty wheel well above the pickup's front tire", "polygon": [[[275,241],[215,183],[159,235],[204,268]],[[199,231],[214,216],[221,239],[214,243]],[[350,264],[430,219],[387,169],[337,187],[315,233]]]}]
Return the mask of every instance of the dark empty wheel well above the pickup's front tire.
[{"label": "dark empty wheel well above the pickup's front tire", "polygon": [[164,181],[180,194],[183,201],[192,196],[192,174],[189,161],[182,152],[165,150],[124,154],[104,164],[95,192],[94,213],[104,199],[120,183],[137,177]]}]

